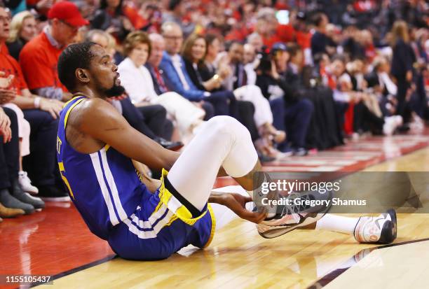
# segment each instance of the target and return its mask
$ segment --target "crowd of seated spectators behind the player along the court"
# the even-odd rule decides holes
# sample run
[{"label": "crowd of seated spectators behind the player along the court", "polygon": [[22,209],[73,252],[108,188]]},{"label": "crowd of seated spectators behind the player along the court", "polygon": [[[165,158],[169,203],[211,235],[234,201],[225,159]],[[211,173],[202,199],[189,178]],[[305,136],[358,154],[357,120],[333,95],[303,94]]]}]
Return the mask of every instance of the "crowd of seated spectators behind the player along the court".
[{"label": "crowd of seated spectators behind the player along the court", "polygon": [[3,218],[41,210],[43,200],[69,199],[55,154],[58,117],[73,97],[57,59],[71,43],[106,50],[124,88],[111,105],[174,150],[214,115],[245,125],[263,162],[317,153],[361,134],[404,133],[429,119],[424,0],[2,4]]}]

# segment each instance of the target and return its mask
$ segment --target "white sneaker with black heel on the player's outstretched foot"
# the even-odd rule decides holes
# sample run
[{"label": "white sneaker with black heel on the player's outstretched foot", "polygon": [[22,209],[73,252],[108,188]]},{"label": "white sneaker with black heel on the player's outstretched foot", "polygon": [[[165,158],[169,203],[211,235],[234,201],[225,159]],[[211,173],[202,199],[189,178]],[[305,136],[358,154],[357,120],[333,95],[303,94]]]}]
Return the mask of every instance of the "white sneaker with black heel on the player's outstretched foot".
[{"label": "white sneaker with black heel on the player's outstretched foot", "polygon": [[388,210],[376,217],[360,217],[355,227],[359,243],[390,244],[396,239],[396,212]]}]

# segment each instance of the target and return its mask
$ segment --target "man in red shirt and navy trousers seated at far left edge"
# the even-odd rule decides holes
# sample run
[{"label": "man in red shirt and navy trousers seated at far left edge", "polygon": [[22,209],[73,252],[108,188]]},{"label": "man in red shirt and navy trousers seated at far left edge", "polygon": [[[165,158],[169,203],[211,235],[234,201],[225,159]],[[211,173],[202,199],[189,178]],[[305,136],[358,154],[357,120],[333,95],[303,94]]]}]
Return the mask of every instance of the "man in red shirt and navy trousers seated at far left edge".
[{"label": "man in red shirt and navy trousers seated at far left edge", "polygon": [[[10,80],[8,83],[2,83],[1,85],[0,104],[10,102],[11,104],[8,104],[8,106],[13,107],[18,115],[23,114],[25,120],[29,122],[29,127],[31,128],[29,148],[28,145],[26,146],[25,143],[22,143],[20,153],[22,156],[26,155],[22,159],[23,167],[32,179],[32,184],[39,188],[39,196],[50,198],[48,200],[53,200],[52,197],[54,197],[56,201],[65,201],[69,199],[67,193],[64,194],[61,190],[62,186],[55,185],[57,117],[60,115],[62,102],[40,97],[29,91],[20,65],[9,55],[8,48],[5,45],[6,40],[9,38],[10,22],[11,17],[9,17],[8,12],[0,7],[0,71],[2,74],[0,77],[1,80]],[[41,72],[34,70],[33,73]],[[21,132],[21,128],[19,129]],[[23,125],[22,130],[24,129]],[[18,162],[16,165],[18,166]],[[14,188],[15,195],[18,193],[18,197],[22,202],[35,204],[39,207],[43,203],[37,200],[34,201],[34,198],[25,197],[26,195],[23,192],[20,193],[22,191],[20,185],[15,185]],[[0,197],[3,202],[6,202],[5,198],[8,196],[3,194]],[[10,201],[11,197],[8,199]],[[11,204],[11,202],[7,202],[7,204]],[[27,209],[26,211],[31,210]]]}]

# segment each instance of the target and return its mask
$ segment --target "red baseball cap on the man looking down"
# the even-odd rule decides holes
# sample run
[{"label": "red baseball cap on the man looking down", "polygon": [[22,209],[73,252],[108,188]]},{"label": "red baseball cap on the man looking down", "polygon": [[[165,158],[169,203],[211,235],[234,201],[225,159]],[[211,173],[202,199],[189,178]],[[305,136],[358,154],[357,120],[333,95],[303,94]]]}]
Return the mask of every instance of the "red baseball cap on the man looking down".
[{"label": "red baseball cap on the man looking down", "polygon": [[81,27],[89,24],[89,21],[82,17],[79,8],[69,1],[55,3],[48,12],[48,18],[57,18],[74,27]]}]

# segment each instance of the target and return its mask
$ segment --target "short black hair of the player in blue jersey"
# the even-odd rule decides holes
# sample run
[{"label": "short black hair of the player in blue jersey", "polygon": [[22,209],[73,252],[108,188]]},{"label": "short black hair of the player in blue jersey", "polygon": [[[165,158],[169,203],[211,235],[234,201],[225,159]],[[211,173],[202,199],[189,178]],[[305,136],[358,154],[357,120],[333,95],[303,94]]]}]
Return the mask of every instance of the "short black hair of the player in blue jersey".
[{"label": "short black hair of the player in blue jersey", "polygon": [[76,87],[76,69],[88,69],[94,54],[91,52],[93,42],[71,44],[65,48],[58,59],[58,78],[72,92]]}]

